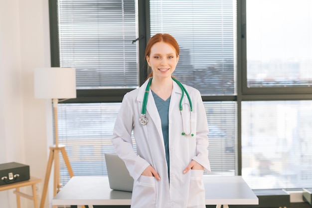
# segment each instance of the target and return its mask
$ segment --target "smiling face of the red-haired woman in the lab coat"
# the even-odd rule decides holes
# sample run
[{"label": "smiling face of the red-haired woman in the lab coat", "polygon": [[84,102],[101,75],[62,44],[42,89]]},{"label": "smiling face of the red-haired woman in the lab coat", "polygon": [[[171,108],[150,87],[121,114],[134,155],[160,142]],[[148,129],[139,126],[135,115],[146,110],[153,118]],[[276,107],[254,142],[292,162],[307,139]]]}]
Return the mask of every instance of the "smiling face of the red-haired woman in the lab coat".
[{"label": "smiling face of the red-haired woman in the lab coat", "polygon": [[170,44],[161,41],[151,47],[151,53],[146,59],[153,70],[153,78],[163,79],[171,78],[179,56]]}]

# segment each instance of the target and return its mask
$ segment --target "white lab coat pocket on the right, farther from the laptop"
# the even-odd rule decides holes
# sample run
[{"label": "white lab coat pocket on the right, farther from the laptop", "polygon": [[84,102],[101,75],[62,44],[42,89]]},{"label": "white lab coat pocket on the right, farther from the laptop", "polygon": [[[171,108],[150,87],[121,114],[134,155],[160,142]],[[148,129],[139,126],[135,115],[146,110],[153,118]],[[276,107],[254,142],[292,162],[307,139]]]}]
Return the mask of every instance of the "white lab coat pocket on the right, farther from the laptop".
[{"label": "white lab coat pocket on the right, farther from the laptop", "polygon": [[187,208],[205,208],[205,189],[202,181],[203,170],[190,170],[190,185]]}]

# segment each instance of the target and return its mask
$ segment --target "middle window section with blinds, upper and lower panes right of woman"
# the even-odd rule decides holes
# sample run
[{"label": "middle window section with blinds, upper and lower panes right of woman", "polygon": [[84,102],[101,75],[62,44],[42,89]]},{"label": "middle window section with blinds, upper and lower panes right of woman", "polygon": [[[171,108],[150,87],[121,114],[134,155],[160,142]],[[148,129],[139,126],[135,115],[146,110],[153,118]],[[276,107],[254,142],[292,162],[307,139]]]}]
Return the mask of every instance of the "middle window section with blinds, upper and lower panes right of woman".
[{"label": "middle window section with blinds, upper and lower panes right of woman", "polygon": [[[235,175],[236,94],[232,0],[150,0],[150,33],[172,34],[180,46],[173,75],[203,96],[210,129],[209,159],[214,174]],[[224,97],[222,97],[224,96]]]}]

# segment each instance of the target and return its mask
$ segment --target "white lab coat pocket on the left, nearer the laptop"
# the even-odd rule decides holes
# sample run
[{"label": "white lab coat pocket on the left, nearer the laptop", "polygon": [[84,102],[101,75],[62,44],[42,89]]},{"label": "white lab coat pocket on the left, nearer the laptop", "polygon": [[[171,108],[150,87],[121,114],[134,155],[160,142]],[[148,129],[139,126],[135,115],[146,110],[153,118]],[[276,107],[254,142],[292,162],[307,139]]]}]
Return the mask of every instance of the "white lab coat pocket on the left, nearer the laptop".
[{"label": "white lab coat pocket on the left, nearer the laptop", "polygon": [[133,187],[131,208],[156,207],[155,180],[155,177],[139,177],[138,181],[134,184]]}]

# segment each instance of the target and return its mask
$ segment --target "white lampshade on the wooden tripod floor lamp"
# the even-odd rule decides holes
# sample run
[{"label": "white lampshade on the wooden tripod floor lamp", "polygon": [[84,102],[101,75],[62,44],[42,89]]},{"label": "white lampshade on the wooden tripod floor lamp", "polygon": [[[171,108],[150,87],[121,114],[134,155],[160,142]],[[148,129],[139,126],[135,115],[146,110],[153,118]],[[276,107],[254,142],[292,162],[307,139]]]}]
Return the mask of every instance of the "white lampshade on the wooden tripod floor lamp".
[{"label": "white lampshade on the wooden tripod floor lamp", "polygon": [[42,99],[76,98],[76,70],[51,67],[34,70],[34,96]]}]

